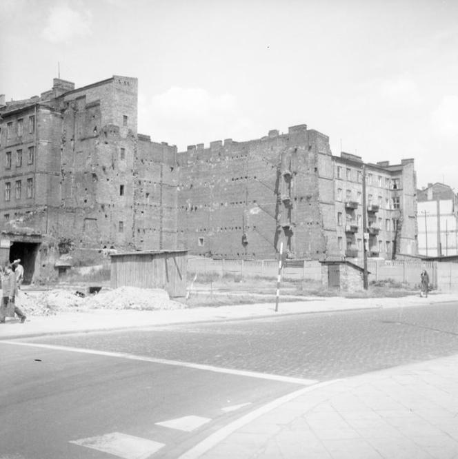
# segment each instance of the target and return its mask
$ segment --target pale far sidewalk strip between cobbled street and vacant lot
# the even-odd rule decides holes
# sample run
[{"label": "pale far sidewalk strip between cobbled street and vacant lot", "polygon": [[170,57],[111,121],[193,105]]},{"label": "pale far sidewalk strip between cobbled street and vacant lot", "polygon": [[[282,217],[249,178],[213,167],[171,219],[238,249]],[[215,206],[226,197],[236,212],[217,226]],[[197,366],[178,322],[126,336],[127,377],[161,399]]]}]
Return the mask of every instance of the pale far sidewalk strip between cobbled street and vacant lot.
[{"label": "pale far sidewalk strip between cobbled street and vacant lot", "polygon": [[192,323],[208,320],[236,320],[283,314],[310,314],[316,312],[348,311],[380,307],[410,307],[458,301],[458,294],[432,294],[428,298],[405,296],[403,298],[317,298],[280,303],[275,312],[275,303],[234,305],[221,307],[195,307],[160,311],[137,311],[132,309],[79,309],[77,312],[58,312],[52,316],[28,316],[26,323],[17,318],[7,318],[0,324],[0,339],[43,334],[90,332],[94,330],[152,327],[175,323]]}]

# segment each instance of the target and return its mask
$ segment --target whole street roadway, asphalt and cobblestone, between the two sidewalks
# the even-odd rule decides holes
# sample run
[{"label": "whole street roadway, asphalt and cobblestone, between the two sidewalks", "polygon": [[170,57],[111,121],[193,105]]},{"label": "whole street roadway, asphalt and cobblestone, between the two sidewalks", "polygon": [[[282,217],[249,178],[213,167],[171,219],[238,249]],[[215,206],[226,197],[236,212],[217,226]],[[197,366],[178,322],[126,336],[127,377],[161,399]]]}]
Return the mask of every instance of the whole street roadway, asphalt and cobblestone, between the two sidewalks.
[{"label": "whole street roadway, asphalt and cobblestone, between the two sidewalks", "polygon": [[[97,437],[100,445],[104,435],[114,432],[123,441],[132,436],[158,442],[162,446],[152,458],[176,458],[230,420],[301,387],[231,369],[325,381],[457,354],[458,303],[21,342],[92,349],[95,354],[0,343],[1,459],[115,457],[93,449],[94,443],[90,448],[72,443]],[[180,362],[212,365],[222,372]],[[248,405],[223,411],[243,404]],[[205,423],[188,431],[157,424],[184,416],[199,416],[197,422]],[[152,451],[148,447],[155,445],[146,445]],[[131,454],[120,457],[134,458]]]}]

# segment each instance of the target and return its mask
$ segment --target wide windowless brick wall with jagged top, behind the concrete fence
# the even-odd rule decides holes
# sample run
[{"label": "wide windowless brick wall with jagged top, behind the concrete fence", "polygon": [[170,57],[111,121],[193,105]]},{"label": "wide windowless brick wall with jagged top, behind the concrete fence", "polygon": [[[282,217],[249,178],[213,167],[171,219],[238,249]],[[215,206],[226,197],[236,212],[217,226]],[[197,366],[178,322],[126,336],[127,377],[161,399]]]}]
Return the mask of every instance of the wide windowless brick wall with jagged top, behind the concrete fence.
[{"label": "wide windowless brick wall with jagged top, behind the concrete fence", "polygon": [[319,258],[321,150],[329,152],[326,136],[306,125],[255,141],[191,145],[178,154],[180,243],[208,256],[270,258],[283,241],[290,256]]}]

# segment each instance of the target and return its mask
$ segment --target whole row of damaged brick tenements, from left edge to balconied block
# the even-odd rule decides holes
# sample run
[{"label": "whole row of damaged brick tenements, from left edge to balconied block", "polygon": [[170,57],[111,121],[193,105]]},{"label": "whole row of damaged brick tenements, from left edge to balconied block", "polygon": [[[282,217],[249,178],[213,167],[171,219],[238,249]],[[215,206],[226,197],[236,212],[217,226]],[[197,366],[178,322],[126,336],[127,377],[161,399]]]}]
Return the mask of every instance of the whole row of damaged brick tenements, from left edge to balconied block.
[{"label": "whole row of damaged brick tenements, from left edge to balconied block", "polygon": [[0,96],[0,116],[0,262],[21,258],[29,282],[112,250],[274,258],[283,243],[290,258],[360,258],[363,176],[368,254],[417,252],[412,159],[332,156],[306,125],[177,152],[137,132],[137,79],[124,76]]}]

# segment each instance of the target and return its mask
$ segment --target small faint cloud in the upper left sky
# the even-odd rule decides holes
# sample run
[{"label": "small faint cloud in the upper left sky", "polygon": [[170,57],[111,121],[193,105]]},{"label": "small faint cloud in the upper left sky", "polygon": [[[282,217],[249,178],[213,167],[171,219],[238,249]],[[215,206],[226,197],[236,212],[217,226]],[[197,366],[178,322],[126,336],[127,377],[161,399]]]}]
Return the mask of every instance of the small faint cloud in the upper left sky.
[{"label": "small faint cloud in the upper left sky", "polygon": [[52,43],[68,41],[73,37],[85,37],[91,33],[92,16],[89,11],[72,10],[66,5],[50,9],[48,25],[43,37]]}]

